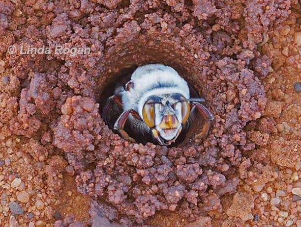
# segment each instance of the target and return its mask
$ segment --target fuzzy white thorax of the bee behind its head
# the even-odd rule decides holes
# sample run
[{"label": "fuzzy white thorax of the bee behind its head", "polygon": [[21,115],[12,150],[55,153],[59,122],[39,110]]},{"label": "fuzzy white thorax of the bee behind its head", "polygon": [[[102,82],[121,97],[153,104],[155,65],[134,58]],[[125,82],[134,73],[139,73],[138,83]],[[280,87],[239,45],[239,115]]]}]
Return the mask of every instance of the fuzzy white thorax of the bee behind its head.
[{"label": "fuzzy white thorax of the bee behind its head", "polygon": [[[161,64],[150,64],[138,67],[131,76],[130,82],[134,83],[129,91],[122,91],[123,110],[134,109],[142,117],[144,103],[152,95],[164,95],[179,93],[189,99],[189,88],[187,82],[169,66]],[[171,87],[151,87],[158,84],[174,84]]]}]

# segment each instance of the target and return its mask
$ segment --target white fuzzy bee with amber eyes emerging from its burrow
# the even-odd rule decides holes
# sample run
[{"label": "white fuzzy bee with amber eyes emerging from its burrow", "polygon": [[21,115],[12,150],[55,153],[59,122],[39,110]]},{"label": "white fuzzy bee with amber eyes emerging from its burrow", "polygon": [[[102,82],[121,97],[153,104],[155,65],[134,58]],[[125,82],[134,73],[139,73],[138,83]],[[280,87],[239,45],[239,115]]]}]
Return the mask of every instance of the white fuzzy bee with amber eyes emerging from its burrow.
[{"label": "white fuzzy bee with amber eyes emerging from its burrow", "polygon": [[107,100],[102,118],[127,141],[136,142],[135,136],[141,141],[169,146],[187,132],[199,111],[205,124],[195,138],[204,138],[214,117],[202,104],[204,99],[190,98],[190,90],[187,82],[169,66],[140,66],[125,86],[118,86]]}]

